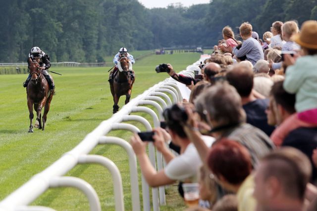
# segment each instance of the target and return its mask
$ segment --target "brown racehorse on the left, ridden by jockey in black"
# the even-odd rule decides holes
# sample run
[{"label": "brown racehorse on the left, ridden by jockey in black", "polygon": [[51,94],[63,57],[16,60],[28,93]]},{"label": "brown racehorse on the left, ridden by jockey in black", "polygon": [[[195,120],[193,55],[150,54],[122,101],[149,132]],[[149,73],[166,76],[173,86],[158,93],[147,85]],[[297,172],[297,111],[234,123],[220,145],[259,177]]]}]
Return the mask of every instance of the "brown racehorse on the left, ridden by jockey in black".
[{"label": "brown racehorse on the left, ridden by jockey in black", "polygon": [[[37,112],[36,123],[34,127],[44,130],[46,118],[50,110],[51,100],[53,98],[54,90],[50,90],[47,80],[44,78],[39,63],[36,60],[31,60],[30,58],[30,74],[31,81],[26,88],[28,108],[30,112],[30,128],[28,132],[33,132],[32,120],[34,117],[33,114],[33,105],[34,110]],[[43,114],[43,126],[41,123],[41,112],[42,108],[44,109]]]}]

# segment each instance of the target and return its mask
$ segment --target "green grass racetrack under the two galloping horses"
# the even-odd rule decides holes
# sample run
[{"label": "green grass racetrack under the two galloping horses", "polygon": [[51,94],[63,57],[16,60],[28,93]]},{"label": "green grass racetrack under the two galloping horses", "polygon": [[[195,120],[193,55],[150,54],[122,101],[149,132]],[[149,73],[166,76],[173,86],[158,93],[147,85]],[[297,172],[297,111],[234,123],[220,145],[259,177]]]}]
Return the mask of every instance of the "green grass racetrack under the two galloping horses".
[{"label": "green grass racetrack under the two galloping horses", "polygon": [[[171,63],[174,70],[179,72],[199,58],[198,53],[174,53],[151,55],[136,61],[133,66],[136,81],[131,99],[168,77],[166,73],[157,74],[156,65]],[[107,70],[111,67],[51,67],[50,70],[62,76],[51,73],[56,95],[53,96],[45,131],[34,128],[34,133],[27,132],[30,121],[26,91],[22,87],[27,75],[0,75],[0,201],[33,175],[53,164],[65,152],[78,145],[103,120],[111,117],[113,100],[107,82]],[[124,100],[125,96],[121,96],[120,108]],[[141,124],[135,125],[142,128]],[[129,140],[132,133],[115,130],[108,135]],[[122,176],[125,210],[132,210],[125,151],[114,145],[100,145],[91,154],[105,156],[117,165]],[[92,164],[78,165],[67,175],[89,182],[99,196],[102,210],[114,210],[111,175],[105,168]],[[141,192],[141,179],[139,181]],[[162,206],[161,210],[176,211],[184,208],[176,192],[174,185],[167,189],[167,205]],[[56,211],[89,210],[86,196],[75,188],[51,188],[32,205],[47,206]]]}]

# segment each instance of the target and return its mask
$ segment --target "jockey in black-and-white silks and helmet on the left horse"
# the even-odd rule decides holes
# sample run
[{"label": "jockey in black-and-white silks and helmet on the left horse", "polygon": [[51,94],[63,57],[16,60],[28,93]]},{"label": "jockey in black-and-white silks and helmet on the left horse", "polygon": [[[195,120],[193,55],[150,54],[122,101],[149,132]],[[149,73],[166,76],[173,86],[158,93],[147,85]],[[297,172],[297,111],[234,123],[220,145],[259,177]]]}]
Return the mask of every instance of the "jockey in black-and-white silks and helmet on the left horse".
[{"label": "jockey in black-and-white silks and helmet on the left horse", "polygon": [[[30,66],[29,58],[31,58],[31,60],[33,59],[37,60],[38,58],[40,59],[39,64],[40,64],[42,74],[45,77],[45,79],[48,81],[50,89],[53,90],[55,88],[53,79],[50,76],[50,74],[48,74],[48,72],[46,71],[47,69],[51,67],[50,56],[46,54],[44,51],[42,51],[39,47],[32,47],[28,57],[28,68]],[[29,74],[28,78],[23,83],[23,87],[28,86],[30,79],[31,79],[31,75]]]}]

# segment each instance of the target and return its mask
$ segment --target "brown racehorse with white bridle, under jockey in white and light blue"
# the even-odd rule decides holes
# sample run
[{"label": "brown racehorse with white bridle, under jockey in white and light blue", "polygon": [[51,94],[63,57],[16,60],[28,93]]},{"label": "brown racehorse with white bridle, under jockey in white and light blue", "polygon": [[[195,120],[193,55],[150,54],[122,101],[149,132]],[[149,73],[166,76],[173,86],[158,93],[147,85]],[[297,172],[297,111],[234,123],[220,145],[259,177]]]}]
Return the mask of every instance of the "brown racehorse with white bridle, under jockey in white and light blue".
[{"label": "brown racehorse with white bridle, under jockey in white and light blue", "polygon": [[[131,80],[129,71],[132,71],[132,64],[127,57],[122,57],[118,62],[118,71],[113,76],[113,81],[110,83],[110,90],[113,96],[113,114],[119,110],[118,102],[122,95],[125,95],[125,104],[130,101],[132,85],[134,80]],[[134,73],[134,72],[133,72]]]}]

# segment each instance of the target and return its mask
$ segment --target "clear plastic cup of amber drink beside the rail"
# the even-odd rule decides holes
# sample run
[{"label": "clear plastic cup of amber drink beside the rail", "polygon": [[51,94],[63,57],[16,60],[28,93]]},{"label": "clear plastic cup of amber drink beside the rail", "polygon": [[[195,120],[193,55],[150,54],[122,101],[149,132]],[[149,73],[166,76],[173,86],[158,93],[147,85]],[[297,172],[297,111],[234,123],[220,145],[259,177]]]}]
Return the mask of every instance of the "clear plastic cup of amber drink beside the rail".
[{"label": "clear plastic cup of amber drink beside the rail", "polygon": [[197,206],[199,204],[199,184],[183,183],[184,201],[188,207]]}]

